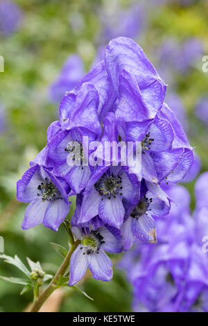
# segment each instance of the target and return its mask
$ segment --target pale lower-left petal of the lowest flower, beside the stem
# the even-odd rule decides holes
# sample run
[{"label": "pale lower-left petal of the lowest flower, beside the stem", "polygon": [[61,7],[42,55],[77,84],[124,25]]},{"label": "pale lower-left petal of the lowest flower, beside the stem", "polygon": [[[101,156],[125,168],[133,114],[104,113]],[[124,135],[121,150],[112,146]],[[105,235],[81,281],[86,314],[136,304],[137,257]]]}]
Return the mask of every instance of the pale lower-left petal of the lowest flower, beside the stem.
[{"label": "pale lower-left petal of the lowest flower, beside the stem", "polygon": [[69,274],[69,286],[76,284],[80,281],[87,271],[87,255],[83,255],[83,250],[80,249],[79,244],[76,250],[74,250],[70,259],[70,274]]}]

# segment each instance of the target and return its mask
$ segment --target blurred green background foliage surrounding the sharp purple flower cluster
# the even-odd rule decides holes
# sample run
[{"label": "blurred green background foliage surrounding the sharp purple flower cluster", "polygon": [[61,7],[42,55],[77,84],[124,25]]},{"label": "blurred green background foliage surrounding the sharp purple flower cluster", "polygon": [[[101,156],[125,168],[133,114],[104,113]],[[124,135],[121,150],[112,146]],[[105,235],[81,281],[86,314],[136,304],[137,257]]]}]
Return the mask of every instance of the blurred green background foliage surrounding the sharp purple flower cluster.
[{"label": "blurred green background foliage surrounding the sharp purple flower cluster", "polygon": [[[62,228],[56,233],[40,225],[21,230],[26,206],[16,200],[17,180],[44,147],[46,129],[58,117],[58,103],[53,103],[49,96],[51,83],[70,54],[80,55],[88,71],[98,46],[107,45],[111,37],[132,37],[168,83],[168,92],[180,98],[184,110],[180,113],[191,145],[196,146],[200,156],[201,171],[207,171],[208,121],[200,121],[195,113],[200,98],[207,96],[208,73],[202,72],[202,56],[208,55],[208,1],[17,0],[15,3],[21,10],[18,28],[7,34],[0,31],[0,55],[5,60],[4,72],[0,73],[0,235],[5,239],[6,255],[17,254],[24,261],[25,257],[40,260],[46,271],[52,273],[62,259],[49,243],[65,246],[67,236]],[[133,18],[132,13],[125,16],[130,10],[135,11]],[[123,28],[125,19],[135,24],[132,35],[128,25],[126,31]],[[190,39],[196,40],[196,44],[188,44],[186,49]],[[176,58],[172,58],[174,53]],[[185,62],[180,62],[181,59]],[[176,102],[172,102],[174,106]],[[191,193],[193,185],[193,181],[186,183]],[[194,203],[191,205],[193,208]],[[15,268],[2,260],[0,275],[18,276]],[[67,290],[60,311],[131,310],[131,288],[123,271],[114,268],[112,282],[89,278],[80,286],[94,301]],[[19,296],[20,291],[21,286],[0,280],[0,311],[25,309],[33,296],[31,292]]]}]

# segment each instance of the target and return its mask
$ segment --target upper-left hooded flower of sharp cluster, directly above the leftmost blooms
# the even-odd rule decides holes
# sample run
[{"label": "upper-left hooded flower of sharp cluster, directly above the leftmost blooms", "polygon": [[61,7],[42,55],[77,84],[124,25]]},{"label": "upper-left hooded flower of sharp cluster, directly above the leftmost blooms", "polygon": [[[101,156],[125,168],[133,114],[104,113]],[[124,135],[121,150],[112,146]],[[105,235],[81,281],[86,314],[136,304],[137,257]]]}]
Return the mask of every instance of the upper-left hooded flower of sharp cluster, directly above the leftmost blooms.
[{"label": "upper-left hooded flower of sharp cluster, directly above the leftmost blooms", "polygon": [[[85,83],[76,96],[69,118],[64,116],[69,94],[60,105],[62,129],[55,133],[48,146],[48,155],[54,162],[55,175],[66,180],[79,194],[85,189],[91,170],[88,164],[89,144],[101,136],[101,124],[96,109],[98,94],[92,84]],[[63,130],[64,129],[64,130]]]}]

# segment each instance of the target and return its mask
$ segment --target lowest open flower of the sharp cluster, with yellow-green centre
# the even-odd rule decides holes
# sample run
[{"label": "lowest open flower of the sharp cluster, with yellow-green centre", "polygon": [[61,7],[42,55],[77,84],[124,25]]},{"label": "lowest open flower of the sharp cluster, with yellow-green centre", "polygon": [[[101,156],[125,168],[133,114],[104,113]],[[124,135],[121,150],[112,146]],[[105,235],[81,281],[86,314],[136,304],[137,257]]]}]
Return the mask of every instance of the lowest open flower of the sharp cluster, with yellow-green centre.
[{"label": "lowest open flower of the sharp cluster, with yellow-green centre", "polygon": [[92,271],[94,279],[112,280],[112,261],[105,251],[114,253],[122,251],[118,232],[105,226],[97,230],[73,227],[72,231],[80,240],[80,244],[71,255],[69,286],[83,278],[87,267]]}]

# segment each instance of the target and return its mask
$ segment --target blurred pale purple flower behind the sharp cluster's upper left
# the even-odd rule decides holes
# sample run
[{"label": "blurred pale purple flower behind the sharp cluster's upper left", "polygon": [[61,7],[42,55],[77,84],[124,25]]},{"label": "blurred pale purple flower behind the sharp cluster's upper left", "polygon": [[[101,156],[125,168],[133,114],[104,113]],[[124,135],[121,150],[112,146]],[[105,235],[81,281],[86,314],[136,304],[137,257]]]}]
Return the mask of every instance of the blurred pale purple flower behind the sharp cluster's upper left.
[{"label": "blurred pale purple flower behind the sharp cluster's upper left", "polygon": [[51,101],[58,103],[66,92],[71,91],[78,81],[83,78],[85,67],[83,60],[76,54],[72,54],[64,62],[58,78],[49,89]]}]

